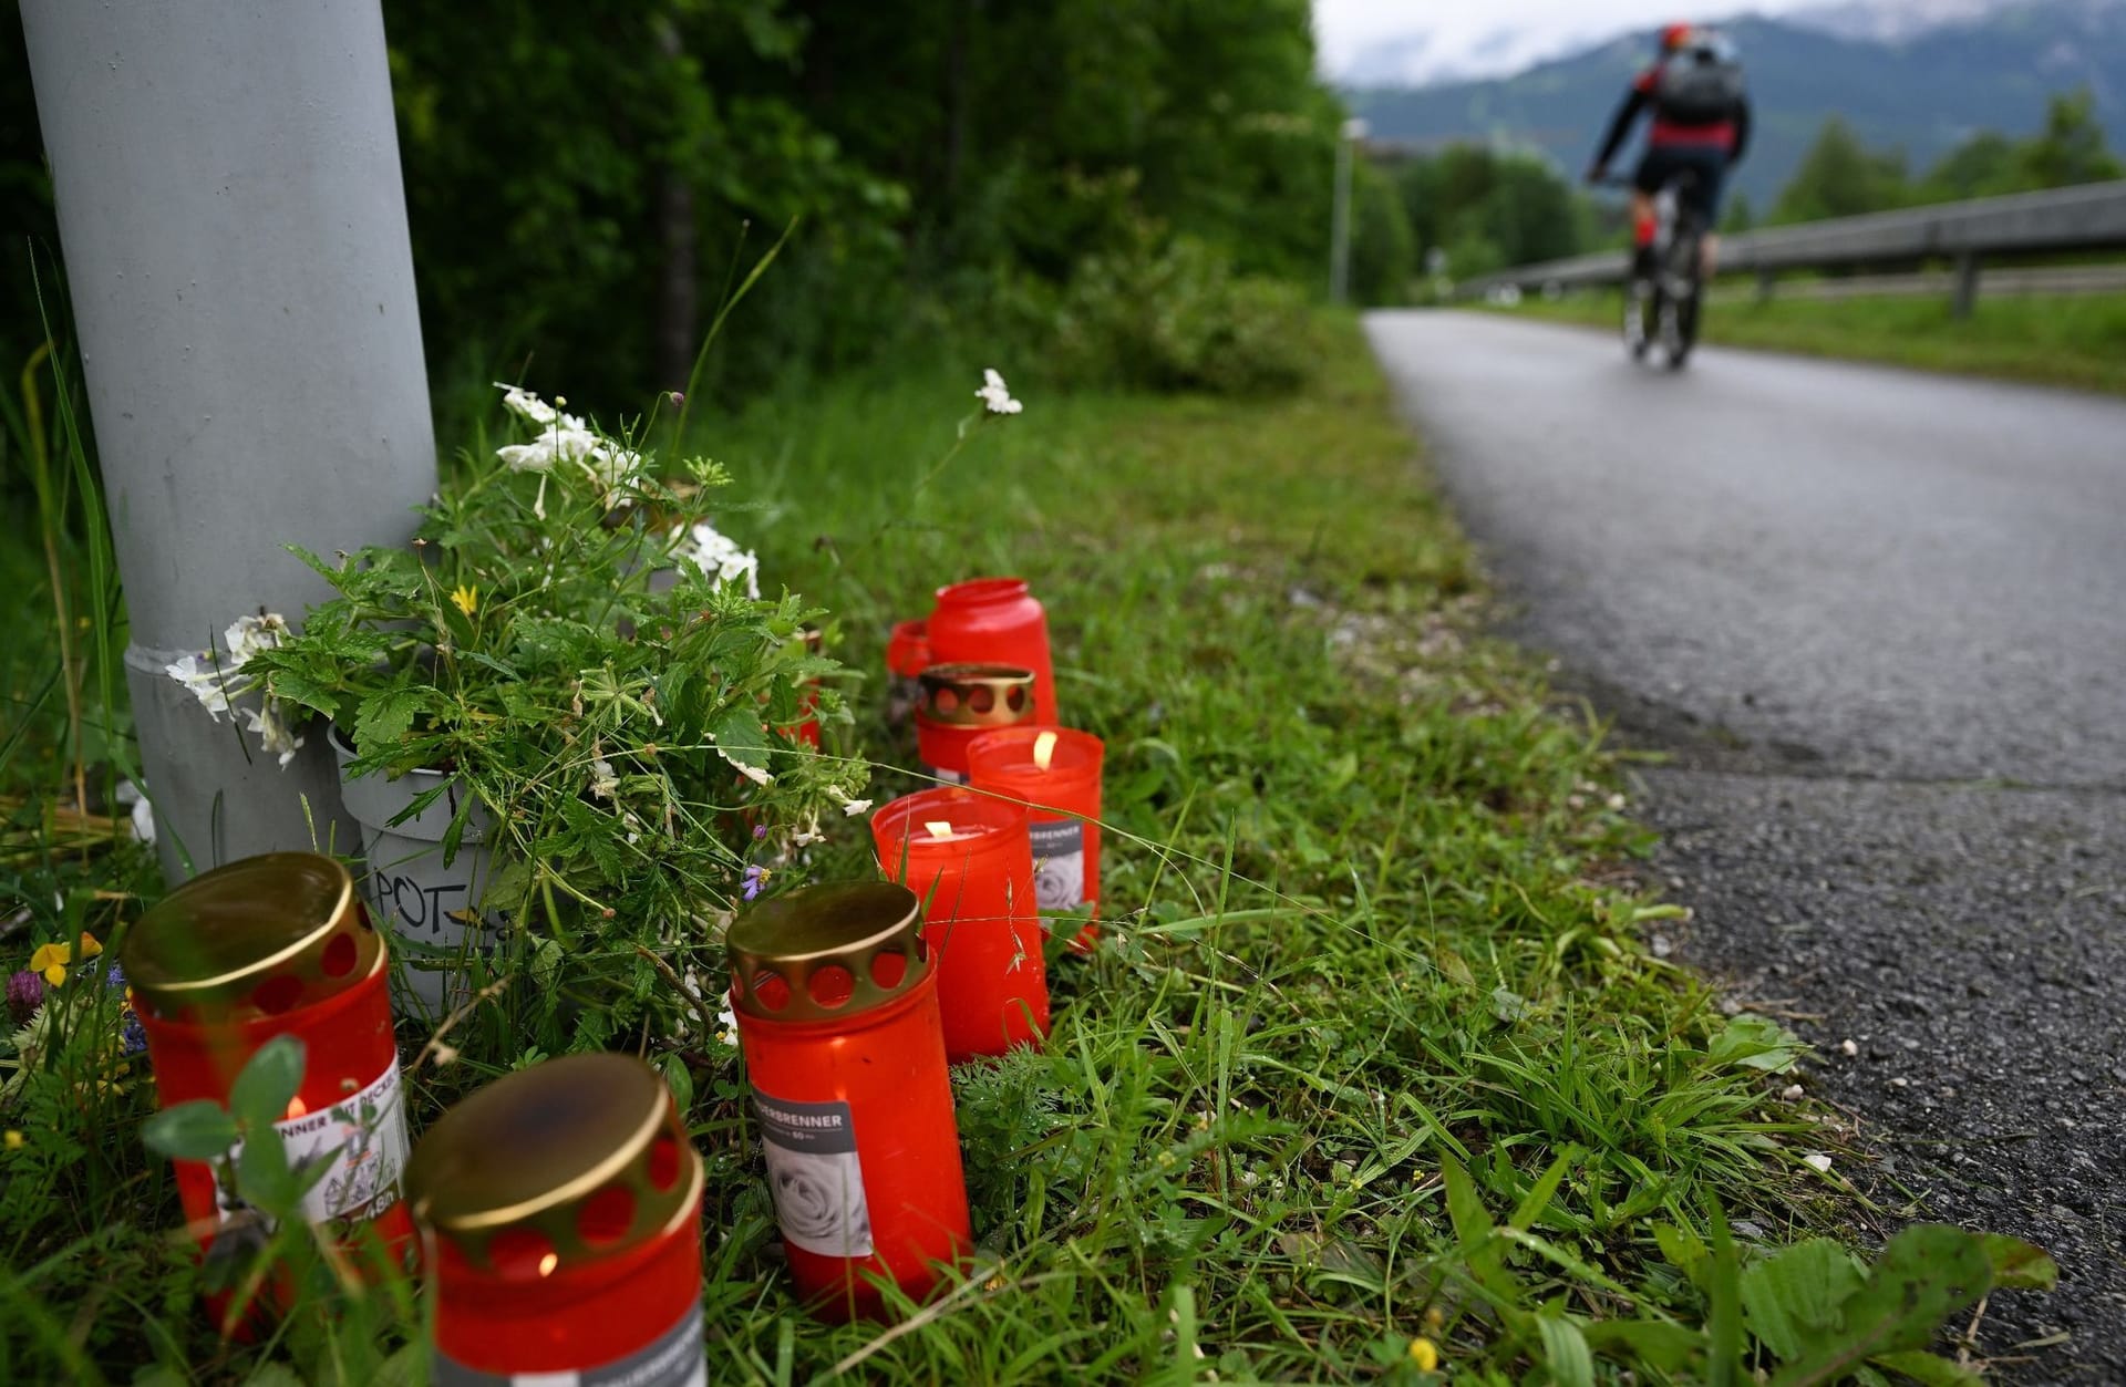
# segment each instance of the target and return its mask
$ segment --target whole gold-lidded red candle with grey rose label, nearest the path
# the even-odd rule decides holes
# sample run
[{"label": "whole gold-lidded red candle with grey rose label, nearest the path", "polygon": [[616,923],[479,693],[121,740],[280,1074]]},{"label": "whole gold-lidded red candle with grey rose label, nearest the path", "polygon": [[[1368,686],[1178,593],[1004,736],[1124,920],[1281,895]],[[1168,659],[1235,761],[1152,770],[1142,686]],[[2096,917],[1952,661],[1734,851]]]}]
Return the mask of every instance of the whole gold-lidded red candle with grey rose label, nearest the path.
[{"label": "whole gold-lidded red candle with grey rose label, nearest the path", "polygon": [[967,1257],[967,1185],[912,890],[831,881],[725,935],[731,1009],[791,1279],[821,1319],[878,1319]]}]

